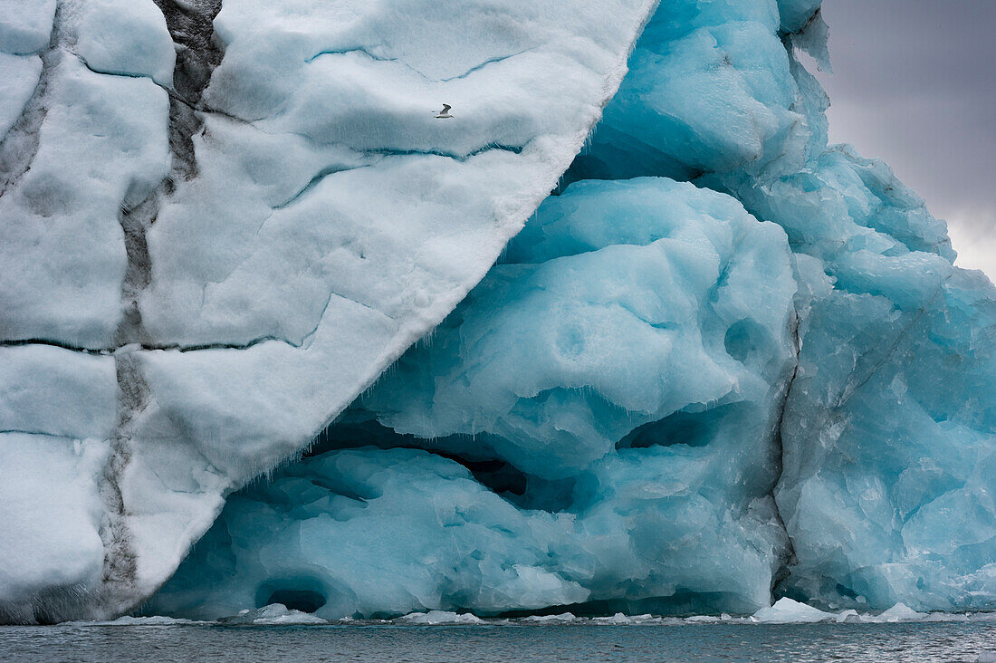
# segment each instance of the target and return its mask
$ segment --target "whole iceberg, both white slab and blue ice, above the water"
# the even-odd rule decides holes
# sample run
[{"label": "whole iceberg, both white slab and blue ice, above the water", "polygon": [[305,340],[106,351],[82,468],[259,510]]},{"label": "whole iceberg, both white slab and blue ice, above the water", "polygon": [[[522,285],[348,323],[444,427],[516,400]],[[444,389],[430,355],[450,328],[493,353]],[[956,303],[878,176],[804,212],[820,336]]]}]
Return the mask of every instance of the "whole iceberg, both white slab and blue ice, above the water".
[{"label": "whole iceberg, both white slab and blue ice, above the water", "polygon": [[996,289],[827,37],[0,1],[0,622],[996,610]]}]

